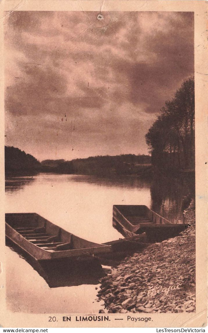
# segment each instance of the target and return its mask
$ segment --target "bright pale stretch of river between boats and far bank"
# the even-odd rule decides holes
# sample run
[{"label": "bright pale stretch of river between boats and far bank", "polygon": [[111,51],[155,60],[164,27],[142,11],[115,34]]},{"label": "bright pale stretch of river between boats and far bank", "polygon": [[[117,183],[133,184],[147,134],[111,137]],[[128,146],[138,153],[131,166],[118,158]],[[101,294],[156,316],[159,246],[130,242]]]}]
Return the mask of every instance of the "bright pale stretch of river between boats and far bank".
[{"label": "bright pale stretch of river between boats and far bank", "polygon": [[[96,243],[121,237],[112,226],[113,204],[150,206],[148,184],[129,180],[40,173],[30,186],[6,193],[6,212],[36,212],[75,235]],[[130,182],[132,183],[132,179]],[[138,180],[135,180],[136,182]],[[116,182],[116,186],[113,184]],[[143,186],[143,187],[142,187]]]}]

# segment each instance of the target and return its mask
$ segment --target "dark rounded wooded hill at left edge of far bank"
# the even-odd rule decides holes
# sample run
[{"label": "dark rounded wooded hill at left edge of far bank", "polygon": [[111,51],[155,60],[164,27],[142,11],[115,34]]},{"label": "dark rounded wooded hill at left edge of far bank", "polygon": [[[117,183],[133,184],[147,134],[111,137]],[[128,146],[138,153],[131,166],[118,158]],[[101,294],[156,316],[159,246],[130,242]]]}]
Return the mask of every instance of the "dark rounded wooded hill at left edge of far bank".
[{"label": "dark rounded wooded hill at left edge of far bank", "polygon": [[5,175],[30,175],[39,172],[41,164],[30,154],[5,146]]}]

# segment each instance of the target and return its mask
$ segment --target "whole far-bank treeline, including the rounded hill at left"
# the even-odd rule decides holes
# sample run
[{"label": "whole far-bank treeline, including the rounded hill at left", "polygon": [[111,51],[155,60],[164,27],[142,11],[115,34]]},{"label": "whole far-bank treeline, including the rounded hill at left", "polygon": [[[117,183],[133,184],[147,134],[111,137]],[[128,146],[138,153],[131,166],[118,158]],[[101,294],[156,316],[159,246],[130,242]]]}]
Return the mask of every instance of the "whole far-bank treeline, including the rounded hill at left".
[{"label": "whole far-bank treeline, including the rounded hill at left", "polygon": [[148,155],[96,156],[87,159],[45,160],[41,163],[18,148],[5,147],[5,174],[27,175],[37,172],[94,174],[101,176],[136,175],[151,169]]}]

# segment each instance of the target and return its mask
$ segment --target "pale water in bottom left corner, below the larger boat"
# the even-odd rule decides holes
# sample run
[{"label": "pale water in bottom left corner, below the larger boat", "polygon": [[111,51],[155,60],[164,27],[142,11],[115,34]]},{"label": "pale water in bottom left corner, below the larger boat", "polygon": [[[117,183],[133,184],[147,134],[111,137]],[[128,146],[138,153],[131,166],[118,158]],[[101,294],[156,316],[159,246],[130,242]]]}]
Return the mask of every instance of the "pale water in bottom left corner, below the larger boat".
[{"label": "pale water in bottom left corner, below the larger boat", "polygon": [[6,301],[12,312],[98,313],[104,302],[97,302],[99,285],[81,284],[50,288],[45,279],[16,251],[6,246]]}]

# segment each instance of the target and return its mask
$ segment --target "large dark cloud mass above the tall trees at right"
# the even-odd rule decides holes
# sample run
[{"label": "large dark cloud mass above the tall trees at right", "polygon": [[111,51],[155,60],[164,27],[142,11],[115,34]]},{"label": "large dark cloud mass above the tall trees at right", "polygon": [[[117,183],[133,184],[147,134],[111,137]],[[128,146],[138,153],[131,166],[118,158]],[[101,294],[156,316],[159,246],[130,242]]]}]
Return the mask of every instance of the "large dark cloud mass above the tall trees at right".
[{"label": "large dark cloud mass above the tall trees at right", "polygon": [[142,102],[146,104],[146,112],[157,113],[182,80],[193,75],[193,13],[180,13],[179,19],[176,16],[170,20],[169,27],[168,31],[145,35],[143,50],[147,54],[149,51],[149,61],[111,61],[117,81],[126,83],[130,90],[115,92],[120,102],[125,99],[135,105]]}]

